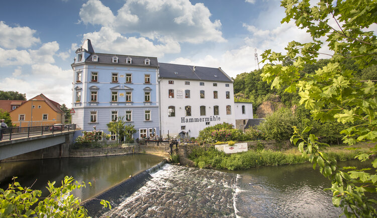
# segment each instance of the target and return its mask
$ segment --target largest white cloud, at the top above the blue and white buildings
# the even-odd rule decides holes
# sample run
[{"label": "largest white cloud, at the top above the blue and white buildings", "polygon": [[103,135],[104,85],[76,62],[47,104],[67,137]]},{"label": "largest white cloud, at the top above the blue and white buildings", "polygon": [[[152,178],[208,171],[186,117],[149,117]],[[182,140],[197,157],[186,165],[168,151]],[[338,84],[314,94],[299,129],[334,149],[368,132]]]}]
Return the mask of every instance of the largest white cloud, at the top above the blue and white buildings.
[{"label": "largest white cloud, at the top above the blue and white buildings", "polygon": [[150,39],[189,43],[226,42],[221,22],[212,22],[210,17],[207,7],[192,5],[189,0],[128,0],[117,16],[99,0],[89,0],[80,9],[84,24],[100,24],[119,34],[138,33]]}]

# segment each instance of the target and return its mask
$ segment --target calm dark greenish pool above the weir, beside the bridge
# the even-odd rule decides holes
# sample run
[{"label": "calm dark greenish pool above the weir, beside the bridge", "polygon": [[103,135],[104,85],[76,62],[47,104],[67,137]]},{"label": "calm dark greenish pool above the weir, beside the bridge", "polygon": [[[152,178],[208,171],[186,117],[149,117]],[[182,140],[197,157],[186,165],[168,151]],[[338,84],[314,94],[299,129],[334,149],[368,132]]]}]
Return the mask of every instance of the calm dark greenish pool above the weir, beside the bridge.
[{"label": "calm dark greenish pool above the weir, beside the bridge", "polygon": [[6,188],[12,177],[17,176],[22,186],[30,186],[35,182],[33,189],[47,191],[44,187],[48,181],[56,181],[57,186],[67,175],[77,181],[91,182],[91,186],[73,193],[85,200],[162,160],[162,157],[156,155],[134,154],[0,163],[0,187]]}]

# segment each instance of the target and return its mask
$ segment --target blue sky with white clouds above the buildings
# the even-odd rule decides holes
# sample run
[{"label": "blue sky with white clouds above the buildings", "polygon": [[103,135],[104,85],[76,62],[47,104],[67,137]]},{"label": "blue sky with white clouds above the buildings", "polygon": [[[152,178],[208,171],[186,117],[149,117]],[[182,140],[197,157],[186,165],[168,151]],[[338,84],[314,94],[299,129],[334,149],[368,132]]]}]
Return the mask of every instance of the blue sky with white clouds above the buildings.
[{"label": "blue sky with white clouds above the buildings", "polygon": [[266,49],[311,40],[280,23],[276,0],[0,1],[0,90],[43,93],[69,108],[71,63],[85,39],[98,53],[221,67],[234,78],[258,68],[254,49],[260,61]]}]

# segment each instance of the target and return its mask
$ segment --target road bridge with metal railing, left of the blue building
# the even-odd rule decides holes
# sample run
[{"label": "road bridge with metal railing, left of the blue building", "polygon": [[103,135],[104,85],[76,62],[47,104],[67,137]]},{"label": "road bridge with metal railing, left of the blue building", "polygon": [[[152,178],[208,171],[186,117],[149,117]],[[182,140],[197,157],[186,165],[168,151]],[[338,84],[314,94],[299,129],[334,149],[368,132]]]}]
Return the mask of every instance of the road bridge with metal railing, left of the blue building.
[{"label": "road bridge with metal railing, left of the blue building", "polygon": [[68,156],[75,130],[76,124],[0,129],[0,160],[56,145],[55,156]]}]

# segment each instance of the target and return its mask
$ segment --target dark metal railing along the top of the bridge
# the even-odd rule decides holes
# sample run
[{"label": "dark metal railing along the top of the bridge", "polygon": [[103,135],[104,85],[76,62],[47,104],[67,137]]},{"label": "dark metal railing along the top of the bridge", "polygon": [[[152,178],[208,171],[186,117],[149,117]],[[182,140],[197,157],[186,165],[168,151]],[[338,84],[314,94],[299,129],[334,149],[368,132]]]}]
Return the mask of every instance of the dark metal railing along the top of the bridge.
[{"label": "dark metal railing along the top of the bridge", "polygon": [[31,136],[43,136],[43,134],[54,134],[76,130],[76,124],[62,124],[39,127],[11,127],[0,129],[0,141],[12,140]]}]

